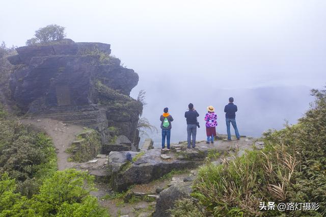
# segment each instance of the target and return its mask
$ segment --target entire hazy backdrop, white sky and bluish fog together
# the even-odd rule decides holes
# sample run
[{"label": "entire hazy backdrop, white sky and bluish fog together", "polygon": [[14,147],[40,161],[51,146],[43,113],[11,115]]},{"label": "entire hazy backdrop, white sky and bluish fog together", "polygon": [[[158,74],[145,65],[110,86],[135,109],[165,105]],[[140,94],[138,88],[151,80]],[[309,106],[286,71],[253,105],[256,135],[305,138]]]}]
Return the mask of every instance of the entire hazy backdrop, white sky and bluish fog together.
[{"label": "entire hazy backdrop, white sky and bluish fog together", "polygon": [[[172,141],[184,140],[184,111],[193,102],[202,121],[208,105],[219,116],[230,96],[240,134],[295,123],[325,85],[326,2],[320,1],[2,1],[0,40],[23,46],[55,23],[76,42],[111,44],[147,91],[143,117],[159,127],[169,107]],[[155,143],[159,134],[152,134]]]}]

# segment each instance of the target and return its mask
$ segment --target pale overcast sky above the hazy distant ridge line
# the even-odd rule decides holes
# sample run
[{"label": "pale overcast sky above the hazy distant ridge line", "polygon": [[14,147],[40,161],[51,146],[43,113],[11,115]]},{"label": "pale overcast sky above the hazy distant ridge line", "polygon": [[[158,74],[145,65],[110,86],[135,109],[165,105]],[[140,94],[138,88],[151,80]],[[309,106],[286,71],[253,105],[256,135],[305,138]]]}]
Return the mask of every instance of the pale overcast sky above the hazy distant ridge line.
[{"label": "pale overcast sky above the hazy distant ridge line", "polygon": [[145,80],[178,74],[193,78],[189,85],[213,76],[226,89],[320,87],[325,11],[323,0],[2,0],[0,40],[22,46],[35,30],[56,23],[76,42],[111,44],[113,54]]}]

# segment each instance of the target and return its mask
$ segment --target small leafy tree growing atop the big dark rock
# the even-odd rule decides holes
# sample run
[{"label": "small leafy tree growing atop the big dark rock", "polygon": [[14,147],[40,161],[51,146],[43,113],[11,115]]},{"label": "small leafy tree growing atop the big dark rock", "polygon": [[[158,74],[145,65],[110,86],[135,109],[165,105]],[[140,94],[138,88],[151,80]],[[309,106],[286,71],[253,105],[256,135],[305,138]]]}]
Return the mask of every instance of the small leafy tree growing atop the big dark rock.
[{"label": "small leafy tree growing atop the big dark rock", "polygon": [[26,41],[26,45],[44,44],[51,41],[61,40],[66,36],[65,28],[51,24],[35,31],[35,37]]}]

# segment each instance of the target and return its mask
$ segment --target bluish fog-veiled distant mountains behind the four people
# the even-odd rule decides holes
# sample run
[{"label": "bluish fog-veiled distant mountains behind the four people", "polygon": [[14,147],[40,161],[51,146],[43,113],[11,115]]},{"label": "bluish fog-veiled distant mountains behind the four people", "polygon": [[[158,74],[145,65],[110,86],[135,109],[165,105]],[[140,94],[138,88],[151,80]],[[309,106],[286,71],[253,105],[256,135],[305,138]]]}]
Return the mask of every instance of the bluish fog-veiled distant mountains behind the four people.
[{"label": "bluish fog-veiled distant mountains behind the four people", "polygon": [[[201,127],[197,128],[197,139],[205,140],[205,121],[203,119],[207,113],[207,106],[213,105],[218,115],[216,131],[226,134],[224,106],[228,103],[229,96],[232,96],[238,107],[236,121],[240,134],[258,138],[261,137],[263,131],[268,129],[281,129],[285,123],[296,123],[297,119],[308,110],[309,102],[313,100],[309,92],[310,88],[306,86],[234,90],[200,88],[195,92],[182,88],[161,92],[159,87],[153,87],[147,94],[149,104],[145,106],[143,116],[159,129],[159,116],[162,114],[163,108],[168,106],[169,112],[174,118],[171,141],[183,141],[186,140],[184,112],[187,111],[188,103],[192,102],[200,114],[198,121]],[[166,98],[167,95],[170,97]],[[231,133],[234,134],[232,126]],[[146,135],[143,136],[143,138],[145,137]],[[150,133],[150,137],[156,146],[160,144],[160,131]]]}]

